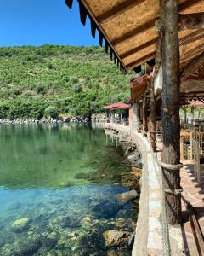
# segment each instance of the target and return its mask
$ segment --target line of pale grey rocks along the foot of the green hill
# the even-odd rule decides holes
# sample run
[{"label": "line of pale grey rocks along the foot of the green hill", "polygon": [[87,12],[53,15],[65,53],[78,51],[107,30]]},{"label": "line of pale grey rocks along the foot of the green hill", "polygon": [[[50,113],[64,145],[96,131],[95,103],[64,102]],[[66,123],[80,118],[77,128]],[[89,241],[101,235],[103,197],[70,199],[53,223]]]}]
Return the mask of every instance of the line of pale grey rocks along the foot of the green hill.
[{"label": "line of pale grey rocks along the foot of the green hill", "polygon": [[42,119],[0,119],[0,124],[22,125],[22,124],[56,124],[56,123],[88,123],[90,119],[81,116],[63,118],[42,118]]}]

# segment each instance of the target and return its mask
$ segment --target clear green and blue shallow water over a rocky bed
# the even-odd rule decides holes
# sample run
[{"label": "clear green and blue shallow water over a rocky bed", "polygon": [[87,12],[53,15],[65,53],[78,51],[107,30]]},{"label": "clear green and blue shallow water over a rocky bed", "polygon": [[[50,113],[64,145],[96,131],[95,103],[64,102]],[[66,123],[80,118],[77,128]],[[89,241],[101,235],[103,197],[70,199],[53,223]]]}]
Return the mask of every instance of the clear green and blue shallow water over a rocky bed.
[{"label": "clear green and blue shallow water over a rocky bed", "polygon": [[114,255],[103,232],[133,230],[131,204],[116,200],[129,167],[104,131],[1,125],[0,152],[0,255]]}]

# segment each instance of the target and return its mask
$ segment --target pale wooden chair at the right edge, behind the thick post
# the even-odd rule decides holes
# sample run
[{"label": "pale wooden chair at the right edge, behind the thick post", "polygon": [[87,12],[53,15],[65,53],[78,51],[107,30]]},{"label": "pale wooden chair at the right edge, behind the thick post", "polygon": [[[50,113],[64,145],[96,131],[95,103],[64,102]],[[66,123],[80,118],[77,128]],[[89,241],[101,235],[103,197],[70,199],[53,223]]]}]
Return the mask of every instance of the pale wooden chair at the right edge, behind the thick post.
[{"label": "pale wooden chair at the right edge, behind the thick post", "polygon": [[201,184],[201,167],[204,166],[204,158],[201,157],[199,142],[193,141],[194,148],[194,173],[197,183]]}]

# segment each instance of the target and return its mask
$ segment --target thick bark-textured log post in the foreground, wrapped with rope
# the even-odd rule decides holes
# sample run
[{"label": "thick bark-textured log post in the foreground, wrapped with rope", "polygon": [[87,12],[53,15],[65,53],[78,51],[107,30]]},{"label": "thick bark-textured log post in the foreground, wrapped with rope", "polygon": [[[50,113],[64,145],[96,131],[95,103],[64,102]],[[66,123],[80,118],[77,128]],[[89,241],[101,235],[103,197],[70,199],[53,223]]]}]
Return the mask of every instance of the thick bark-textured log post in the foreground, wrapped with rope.
[{"label": "thick bark-textured log post in the foreground, wrapped with rope", "polygon": [[[163,151],[161,160],[168,165],[180,162],[180,120],[178,79],[178,0],[161,0],[162,30],[162,125]],[[179,170],[163,168],[164,188],[180,189]],[[170,191],[169,190],[169,191]],[[181,195],[166,192],[166,211],[169,224],[181,222]]]}]

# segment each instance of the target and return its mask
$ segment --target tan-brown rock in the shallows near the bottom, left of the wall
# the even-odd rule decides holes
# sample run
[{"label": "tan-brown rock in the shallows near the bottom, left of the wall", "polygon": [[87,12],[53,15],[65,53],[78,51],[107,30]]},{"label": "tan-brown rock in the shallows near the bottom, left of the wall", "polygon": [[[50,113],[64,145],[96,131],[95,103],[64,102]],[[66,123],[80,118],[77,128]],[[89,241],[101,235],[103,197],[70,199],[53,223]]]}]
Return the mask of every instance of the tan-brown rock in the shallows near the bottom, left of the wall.
[{"label": "tan-brown rock in the shallows near the bottom, left of the wall", "polygon": [[107,230],[103,233],[106,246],[118,246],[128,243],[128,237],[130,235],[130,232],[118,230]]}]

